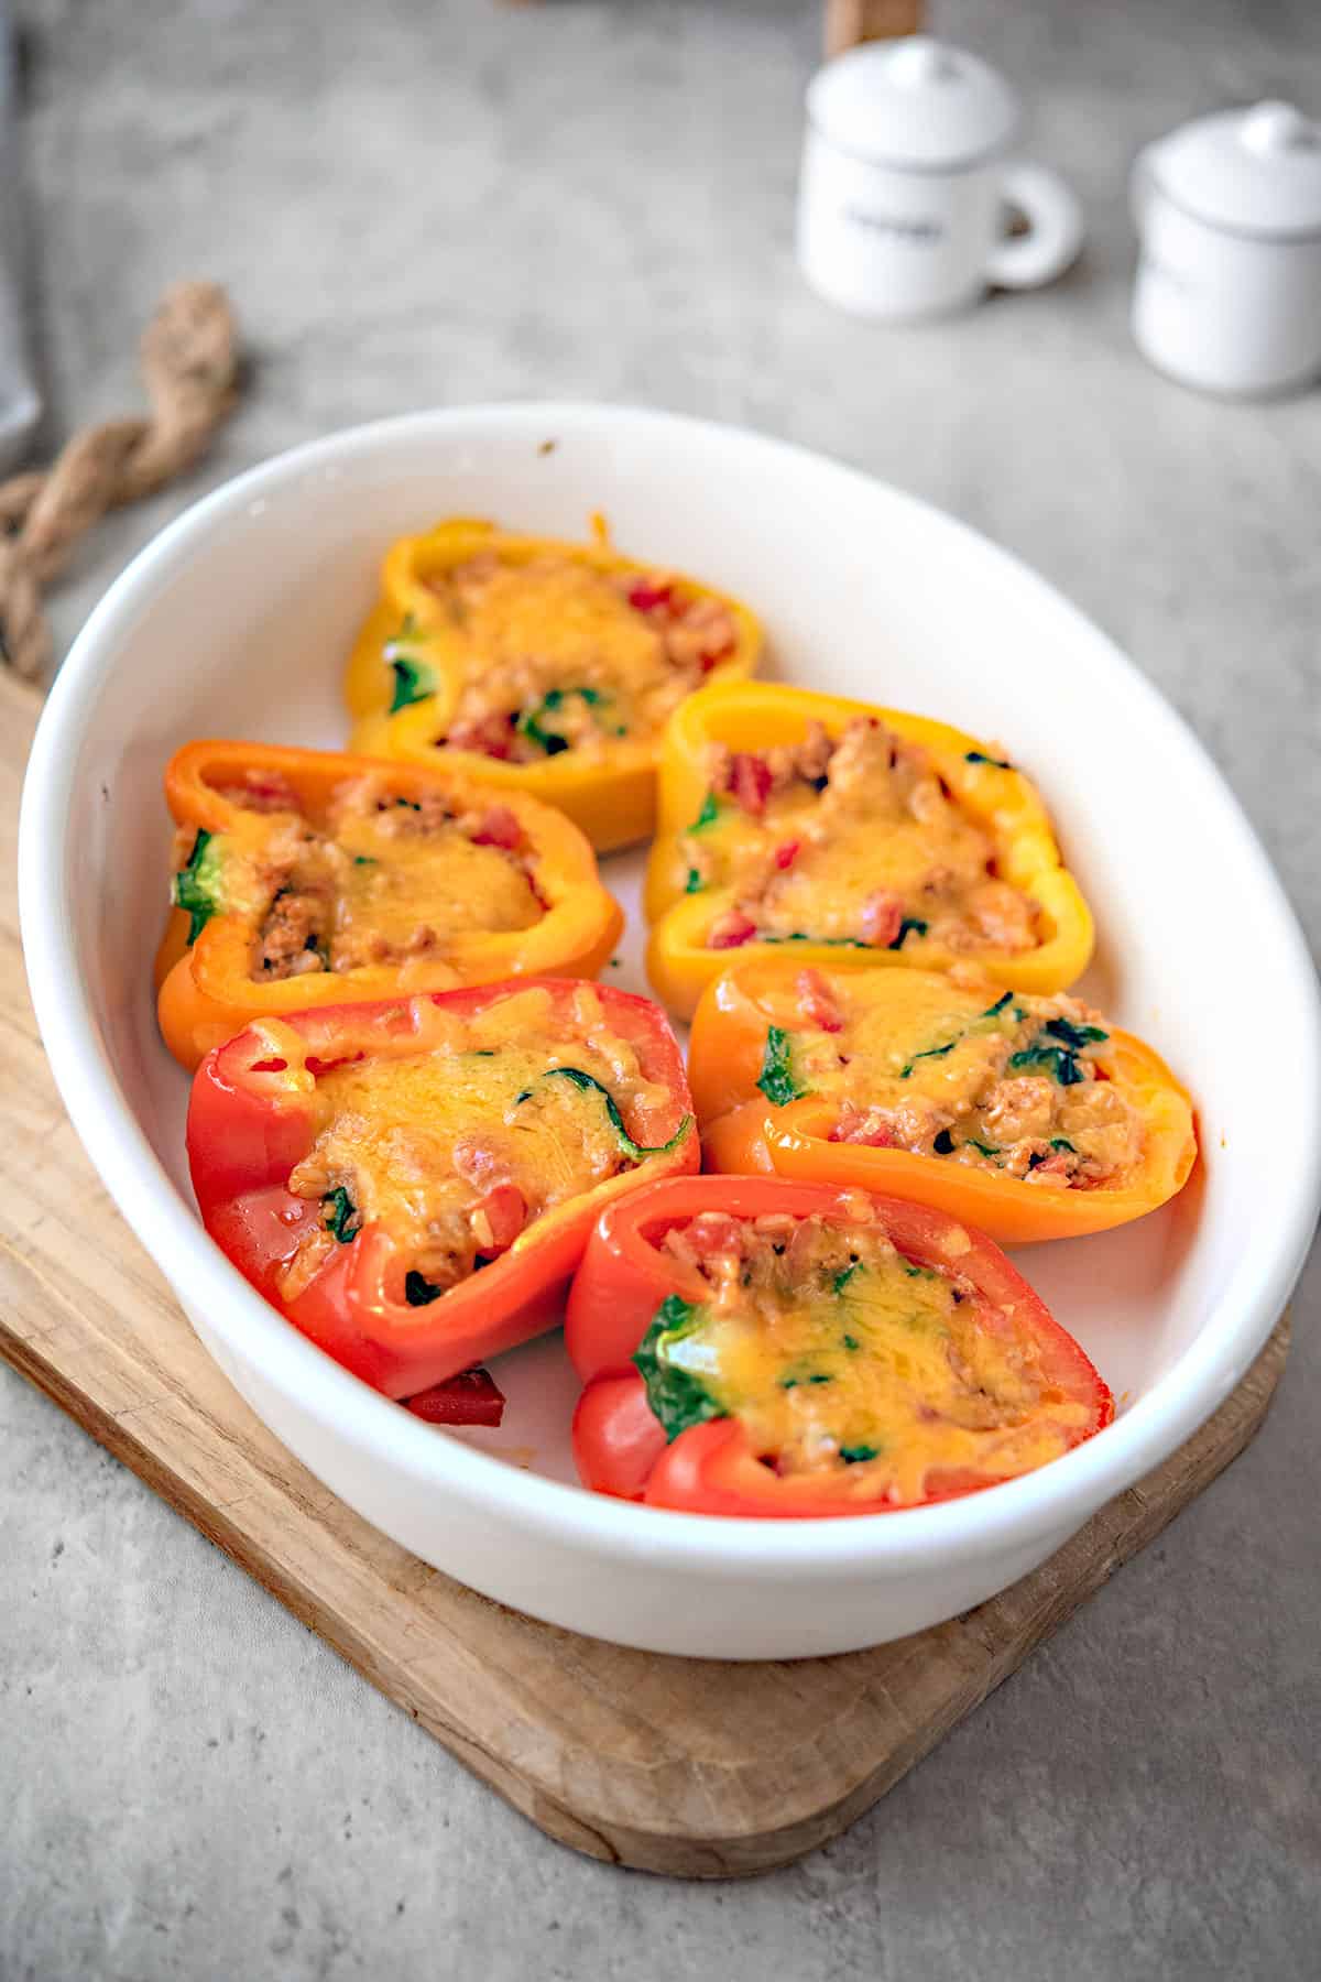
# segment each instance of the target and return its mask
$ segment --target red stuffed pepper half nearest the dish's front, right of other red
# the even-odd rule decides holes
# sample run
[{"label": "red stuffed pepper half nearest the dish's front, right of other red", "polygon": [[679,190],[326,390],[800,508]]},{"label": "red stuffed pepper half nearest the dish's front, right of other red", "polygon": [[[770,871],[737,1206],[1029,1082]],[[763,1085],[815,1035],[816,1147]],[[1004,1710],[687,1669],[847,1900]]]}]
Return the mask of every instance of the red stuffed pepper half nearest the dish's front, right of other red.
[{"label": "red stuffed pepper half nearest the dish's front, right of other red", "polygon": [[658,1183],[564,1324],[586,1486],[691,1514],[877,1514],[1058,1459],[1115,1413],[1081,1348],[943,1211],[761,1177]]}]

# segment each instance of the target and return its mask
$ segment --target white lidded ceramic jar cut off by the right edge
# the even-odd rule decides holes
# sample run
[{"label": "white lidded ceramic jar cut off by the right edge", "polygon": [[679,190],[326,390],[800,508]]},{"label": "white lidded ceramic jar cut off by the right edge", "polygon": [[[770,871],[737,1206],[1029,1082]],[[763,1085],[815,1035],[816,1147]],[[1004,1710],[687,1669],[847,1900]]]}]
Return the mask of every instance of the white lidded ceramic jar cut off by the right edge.
[{"label": "white lidded ceramic jar cut off by the right edge", "polygon": [[1139,153],[1133,335],[1210,392],[1321,377],[1321,125],[1289,103],[1218,111]]}]

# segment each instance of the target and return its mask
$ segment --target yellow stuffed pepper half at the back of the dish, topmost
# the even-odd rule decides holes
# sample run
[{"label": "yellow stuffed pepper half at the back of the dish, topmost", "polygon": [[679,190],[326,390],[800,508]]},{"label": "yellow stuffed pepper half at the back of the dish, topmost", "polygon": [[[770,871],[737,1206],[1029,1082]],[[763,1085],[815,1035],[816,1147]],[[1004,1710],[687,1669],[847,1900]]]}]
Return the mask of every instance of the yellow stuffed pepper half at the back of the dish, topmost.
[{"label": "yellow stuffed pepper half at the back of the dish, topmost", "polygon": [[695,579],[457,517],[386,555],[349,660],[353,747],[527,791],[610,852],[654,828],[671,712],[759,650],[747,606]]}]

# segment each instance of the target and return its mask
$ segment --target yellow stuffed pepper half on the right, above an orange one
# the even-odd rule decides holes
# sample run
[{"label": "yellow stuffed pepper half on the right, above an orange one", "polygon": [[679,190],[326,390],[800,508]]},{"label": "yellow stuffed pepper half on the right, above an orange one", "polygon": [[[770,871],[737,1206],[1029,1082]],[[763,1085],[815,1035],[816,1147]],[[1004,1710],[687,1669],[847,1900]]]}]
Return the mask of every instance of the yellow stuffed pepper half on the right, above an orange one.
[{"label": "yellow stuffed pepper half on the right, above an orange one", "polygon": [[806,688],[707,688],[665,731],[648,975],[691,1017],[729,951],[830,965],[976,963],[1062,991],[1091,914],[1046,809],[998,747]]}]

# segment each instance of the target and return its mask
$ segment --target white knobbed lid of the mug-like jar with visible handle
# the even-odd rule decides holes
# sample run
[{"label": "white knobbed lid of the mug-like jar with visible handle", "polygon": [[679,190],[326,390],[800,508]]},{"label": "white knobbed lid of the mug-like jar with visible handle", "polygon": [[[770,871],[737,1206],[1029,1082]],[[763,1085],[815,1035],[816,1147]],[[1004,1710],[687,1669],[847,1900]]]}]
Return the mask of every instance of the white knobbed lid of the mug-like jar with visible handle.
[{"label": "white knobbed lid of the mug-like jar with visible handle", "polygon": [[867,42],[818,69],[808,119],[842,151],[877,165],[961,166],[1008,143],[1018,97],[986,61],[913,34]]}]

